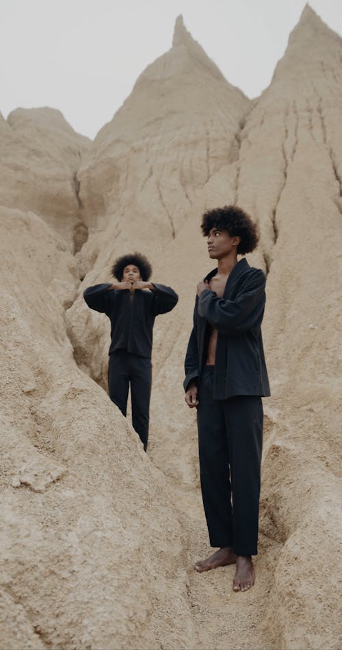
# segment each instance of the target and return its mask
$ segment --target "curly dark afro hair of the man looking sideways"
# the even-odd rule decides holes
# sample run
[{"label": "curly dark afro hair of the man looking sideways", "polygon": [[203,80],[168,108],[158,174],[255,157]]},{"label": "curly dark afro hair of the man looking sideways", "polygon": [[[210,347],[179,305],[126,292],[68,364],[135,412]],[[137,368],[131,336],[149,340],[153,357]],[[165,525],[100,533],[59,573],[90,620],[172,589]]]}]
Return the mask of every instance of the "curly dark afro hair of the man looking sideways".
[{"label": "curly dark afro hair of the man looking sideways", "polygon": [[226,230],[230,237],[240,237],[241,241],[237,247],[240,255],[252,252],[258,245],[257,224],[254,224],[251,217],[237,206],[209,210],[202,217],[201,228],[204,237],[208,237],[211,228]]}]

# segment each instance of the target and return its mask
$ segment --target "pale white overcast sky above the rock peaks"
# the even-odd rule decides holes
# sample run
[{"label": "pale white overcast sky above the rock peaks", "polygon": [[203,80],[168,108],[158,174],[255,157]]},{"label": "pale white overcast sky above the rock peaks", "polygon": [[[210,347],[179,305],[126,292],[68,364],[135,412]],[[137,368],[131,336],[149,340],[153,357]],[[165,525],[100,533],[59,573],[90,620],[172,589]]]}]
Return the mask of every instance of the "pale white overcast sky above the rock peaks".
[{"label": "pale white overcast sky above the rock peaks", "polygon": [[[269,85],[305,0],[0,0],[0,111],[58,108],[94,138],[168,51],[176,16],[248,97]],[[311,0],[342,34],[342,0]]]}]

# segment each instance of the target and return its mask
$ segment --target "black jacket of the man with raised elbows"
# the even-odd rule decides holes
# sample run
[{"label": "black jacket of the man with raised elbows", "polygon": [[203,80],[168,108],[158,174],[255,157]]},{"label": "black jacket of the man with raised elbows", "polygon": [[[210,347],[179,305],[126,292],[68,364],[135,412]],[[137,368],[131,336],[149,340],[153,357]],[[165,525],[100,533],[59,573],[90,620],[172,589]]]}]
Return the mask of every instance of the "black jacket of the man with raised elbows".
[{"label": "black jacket of the man with raised elbows", "polygon": [[153,286],[153,291],[137,289],[111,289],[110,284],[95,285],[84,291],[84,300],[90,309],[107,314],[111,322],[111,346],[109,354],[124,349],[132,354],[150,359],[152,353],[152,330],[157,314],[171,311],[178,296],[170,287]]}]

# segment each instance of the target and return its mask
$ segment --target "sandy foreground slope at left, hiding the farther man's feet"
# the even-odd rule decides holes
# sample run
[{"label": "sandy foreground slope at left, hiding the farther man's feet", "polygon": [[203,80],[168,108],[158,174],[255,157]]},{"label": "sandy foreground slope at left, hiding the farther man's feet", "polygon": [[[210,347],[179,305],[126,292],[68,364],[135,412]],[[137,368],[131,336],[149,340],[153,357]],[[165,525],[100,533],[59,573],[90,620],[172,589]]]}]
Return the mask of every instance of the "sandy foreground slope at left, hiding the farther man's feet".
[{"label": "sandy foreground slope at left, hiding the farther man's feet", "polygon": [[75,290],[73,256],[33,213],[1,208],[1,225],[5,647],[148,649],[166,628],[175,647],[190,645],[181,530],[163,477],[73,360],[51,280]]}]

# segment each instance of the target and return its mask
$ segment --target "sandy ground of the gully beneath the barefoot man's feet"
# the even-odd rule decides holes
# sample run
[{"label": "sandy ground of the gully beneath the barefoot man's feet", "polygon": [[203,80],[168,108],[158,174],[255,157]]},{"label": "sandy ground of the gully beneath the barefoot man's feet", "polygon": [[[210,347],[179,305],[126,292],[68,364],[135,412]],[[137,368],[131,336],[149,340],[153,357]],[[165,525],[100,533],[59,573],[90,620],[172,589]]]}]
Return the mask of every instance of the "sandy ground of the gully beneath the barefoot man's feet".
[{"label": "sandy ground of the gully beneath the barefoot man's feet", "polygon": [[175,488],[172,482],[170,492],[174,494],[182,525],[184,551],[181,561],[187,572],[187,595],[196,634],[192,649],[268,650],[280,647],[267,630],[280,544],[261,535],[259,556],[254,563],[257,572],[254,588],[249,592],[235,593],[232,589],[234,566],[202,574],[194,570],[196,559],[204,559],[212,552],[200,491],[184,485]]}]

